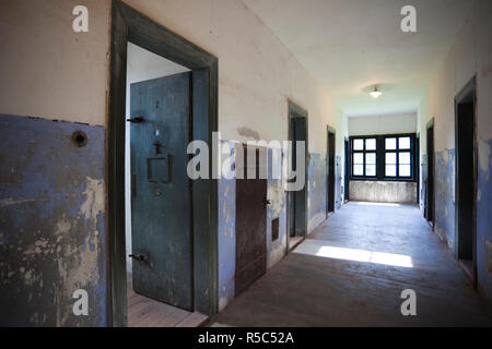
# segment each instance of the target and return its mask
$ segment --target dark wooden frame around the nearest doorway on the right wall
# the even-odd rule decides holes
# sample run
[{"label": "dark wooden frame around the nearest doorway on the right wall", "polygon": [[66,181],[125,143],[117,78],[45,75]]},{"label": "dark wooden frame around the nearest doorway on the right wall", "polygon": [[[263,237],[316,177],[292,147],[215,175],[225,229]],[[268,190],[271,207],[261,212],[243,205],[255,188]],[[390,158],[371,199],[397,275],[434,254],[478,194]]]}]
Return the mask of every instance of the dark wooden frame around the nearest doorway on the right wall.
[{"label": "dark wooden frame around the nearest doorway on the right wall", "polygon": [[462,88],[461,91],[456,95],[455,97],[455,257],[456,260],[459,258],[459,245],[460,245],[460,236],[459,236],[459,171],[458,171],[458,164],[459,164],[459,137],[458,133],[459,130],[457,128],[458,125],[458,106],[462,100],[470,94],[473,94],[473,229],[472,229],[472,263],[473,263],[473,273],[472,273],[472,281],[473,281],[473,288],[477,289],[478,286],[478,267],[477,267],[477,192],[478,192],[478,140],[477,140],[477,76],[473,76]]}]

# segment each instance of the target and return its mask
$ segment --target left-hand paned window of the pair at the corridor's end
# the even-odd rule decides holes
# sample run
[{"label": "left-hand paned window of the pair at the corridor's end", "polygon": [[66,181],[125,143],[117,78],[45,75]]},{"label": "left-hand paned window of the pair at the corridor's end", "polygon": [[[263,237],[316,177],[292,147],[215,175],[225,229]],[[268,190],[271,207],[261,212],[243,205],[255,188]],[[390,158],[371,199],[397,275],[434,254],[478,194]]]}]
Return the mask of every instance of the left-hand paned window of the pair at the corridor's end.
[{"label": "left-hand paned window of the pair at the corridor's end", "polygon": [[376,139],[352,140],[352,176],[376,177]]}]

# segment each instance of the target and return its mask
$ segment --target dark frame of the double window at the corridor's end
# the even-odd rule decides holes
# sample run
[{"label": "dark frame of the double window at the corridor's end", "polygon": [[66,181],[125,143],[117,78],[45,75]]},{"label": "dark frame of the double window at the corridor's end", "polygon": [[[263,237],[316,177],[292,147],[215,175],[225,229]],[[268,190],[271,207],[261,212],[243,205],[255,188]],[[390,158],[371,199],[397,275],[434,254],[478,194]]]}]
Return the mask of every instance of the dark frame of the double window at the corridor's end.
[{"label": "dark frame of the double window at the corridor's end", "polygon": [[[410,148],[409,149],[399,149],[399,139],[400,137],[410,137]],[[376,151],[365,151],[365,142],[367,139],[376,139]],[[386,149],[386,139],[396,139],[396,149]],[[354,140],[364,140],[364,149],[355,151]],[[361,180],[361,181],[396,181],[396,182],[417,182],[417,133],[395,133],[395,134],[367,134],[367,135],[352,135],[349,137],[349,179],[350,180]],[[353,157],[354,154],[362,153],[363,154],[363,176],[353,174],[354,164]],[[365,176],[365,154],[366,153],[376,153],[376,176]],[[386,176],[386,153],[396,153],[396,174],[395,177]],[[400,153],[410,153],[410,176],[409,177],[399,177],[399,154]],[[405,165],[405,164],[403,164]]]}]

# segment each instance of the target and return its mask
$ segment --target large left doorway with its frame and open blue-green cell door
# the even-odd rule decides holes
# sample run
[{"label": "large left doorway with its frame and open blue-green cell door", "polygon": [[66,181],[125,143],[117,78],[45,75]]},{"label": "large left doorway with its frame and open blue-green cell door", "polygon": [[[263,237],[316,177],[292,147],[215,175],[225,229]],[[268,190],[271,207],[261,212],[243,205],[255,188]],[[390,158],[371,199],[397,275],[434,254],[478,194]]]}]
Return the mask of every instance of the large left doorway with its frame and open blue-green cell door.
[{"label": "large left doorway with its frame and open blue-green cell door", "polygon": [[110,324],[195,326],[218,311],[218,198],[189,180],[187,145],[212,148],[218,61],[120,0],[110,56]]}]

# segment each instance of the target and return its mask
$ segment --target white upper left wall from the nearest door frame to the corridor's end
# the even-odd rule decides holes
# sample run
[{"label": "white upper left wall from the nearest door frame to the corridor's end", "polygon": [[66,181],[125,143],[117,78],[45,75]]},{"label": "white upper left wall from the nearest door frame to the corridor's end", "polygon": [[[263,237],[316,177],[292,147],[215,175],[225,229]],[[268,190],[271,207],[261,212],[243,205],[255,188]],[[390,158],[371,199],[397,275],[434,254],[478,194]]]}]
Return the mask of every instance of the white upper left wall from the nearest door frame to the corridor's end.
[{"label": "white upper left wall from the nearest door frame to the corridor's end", "polygon": [[[326,152],[341,111],[271,31],[238,0],[126,0],[219,58],[219,129],[224,140],[288,139],[288,98],[309,113],[309,151]],[[341,137],[341,132],[340,140]],[[341,145],[341,144],[340,144]],[[340,155],[342,147],[339,147]]]}]

